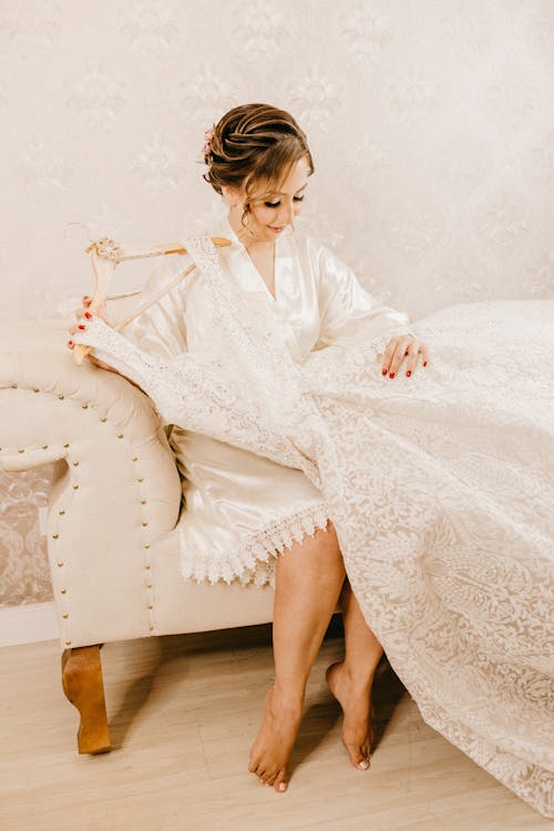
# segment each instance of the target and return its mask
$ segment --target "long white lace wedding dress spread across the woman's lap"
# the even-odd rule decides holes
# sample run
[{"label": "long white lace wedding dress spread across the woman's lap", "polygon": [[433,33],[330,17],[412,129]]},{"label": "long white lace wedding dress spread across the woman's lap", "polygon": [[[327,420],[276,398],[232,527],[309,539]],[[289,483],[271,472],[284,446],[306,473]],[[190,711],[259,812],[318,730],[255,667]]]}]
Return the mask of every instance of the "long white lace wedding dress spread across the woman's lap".
[{"label": "long white lace wedding dress spread across the woman's lap", "polygon": [[209,350],[163,359],[99,318],[75,342],[168,423],[304,471],[423,719],[554,817],[554,301],[414,321],[430,365],[387,382],[387,338],[295,360],[211,239],[183,244],[212,293]]}]

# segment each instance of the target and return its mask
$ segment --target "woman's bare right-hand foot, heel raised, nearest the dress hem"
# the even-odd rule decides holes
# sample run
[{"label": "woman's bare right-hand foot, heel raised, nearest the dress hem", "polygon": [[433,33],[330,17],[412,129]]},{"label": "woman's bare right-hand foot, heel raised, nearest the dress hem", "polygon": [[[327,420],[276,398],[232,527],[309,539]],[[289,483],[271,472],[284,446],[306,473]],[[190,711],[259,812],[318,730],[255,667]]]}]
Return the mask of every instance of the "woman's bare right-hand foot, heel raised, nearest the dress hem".
[{"label": "woman's bare right-hand foot, heel raised, nearest the dress hem", "polygon": [[342,707],[342,743],[356,768],[367,770],[371,757],[373,728],[371,725],[371,686],[368,680],[355,679],[345,669],[342,660],[331,664],[326,673],[327,686]]}]

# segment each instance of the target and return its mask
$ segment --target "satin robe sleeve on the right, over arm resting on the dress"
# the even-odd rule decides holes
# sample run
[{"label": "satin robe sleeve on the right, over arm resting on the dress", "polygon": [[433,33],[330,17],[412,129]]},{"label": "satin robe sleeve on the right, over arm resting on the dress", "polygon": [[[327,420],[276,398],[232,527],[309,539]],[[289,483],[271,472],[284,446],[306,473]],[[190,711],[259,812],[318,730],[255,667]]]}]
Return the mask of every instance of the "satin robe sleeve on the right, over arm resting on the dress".
[{"label": "satin robe sleeve on the right, over arm resting on the dress", "polygon": [[408,312],[397,311],[368,294],[352,269],[322,245],[318,276],[320,329],[316,348],[414,335],[408,326]]}]

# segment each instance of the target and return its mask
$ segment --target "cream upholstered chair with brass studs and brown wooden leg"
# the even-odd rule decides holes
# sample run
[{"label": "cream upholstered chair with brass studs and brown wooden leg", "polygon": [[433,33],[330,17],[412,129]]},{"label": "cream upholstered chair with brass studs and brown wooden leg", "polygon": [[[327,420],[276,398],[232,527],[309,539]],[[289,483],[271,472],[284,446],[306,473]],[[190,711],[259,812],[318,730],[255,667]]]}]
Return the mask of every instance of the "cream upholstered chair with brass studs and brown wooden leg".
[{"label": "cream upholstered chair with brass studs and brown wooden leg", "polygon": [[151,400],[65,347],[74,322],[3,324],[0,466],[54,464],[47,534],[62,683],[82,753],[110,750],[100,647],[268,623],[273,589],[179,574],[182,483]]}]

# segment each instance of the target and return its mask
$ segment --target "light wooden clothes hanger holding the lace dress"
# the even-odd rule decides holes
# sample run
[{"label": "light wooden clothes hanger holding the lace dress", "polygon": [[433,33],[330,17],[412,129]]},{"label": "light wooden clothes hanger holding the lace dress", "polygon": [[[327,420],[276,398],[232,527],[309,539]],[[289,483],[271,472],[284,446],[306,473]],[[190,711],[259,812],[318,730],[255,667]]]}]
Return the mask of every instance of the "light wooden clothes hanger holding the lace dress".
[{"label": "light wooden clothes hanger holding the lace dress", "polygon": [[[212,237],[212,242],[217,248],[230,245],[230,239],[226,239],[225,237]],[[101,239],[96,239],[94,243],[91,243],[90,246],[85,248],[85,254],[91,254],[92,267],[94,269],[95,277],[94,295],[91,300],[91,305],[89,306],[89,310],[92,315],[96,315],[102,300],[104,300],[106,297],[107,288],[110,286],[110,281],[117,263],[121,263],[124,259],[158,257],[163,254],[187,254],[187,250],[178,244],[154,245],[151,248],[123,246],[120,243],[116,243],[114,239],[111,239],[110,237],[102,237]],[[177,283],[179,283],[184,277],[191,274],[191,271],[193,271],[195,268],[196,265],[194,263],[189,265],[188,268],[186,268],[182,274],[178,274],[167,286],[164,286],[160,291],[157,291],[156,295],[150,297],[148,300],[137,309],[134,309],[134,311],[129,317],[126,317],[124,320],[121,320],[114,328],[116,330],[123,329],[124,326],[131,322],[131,320],[137,317],[137,315],[141,315],[145,309],[148,308],[148,306],[152,306],[153,302],[155,302],[163,295],[170,291],[170,289],[176,286]],[[75,343],[75,347],[73,348],[73,359],[75,363],[78,366],[81,366],[85,356],[89,355],[91,347],[84,346],[83,343]]]}]

